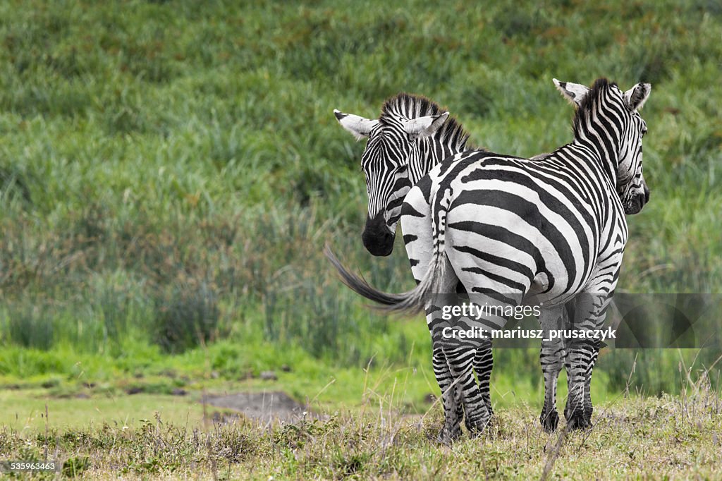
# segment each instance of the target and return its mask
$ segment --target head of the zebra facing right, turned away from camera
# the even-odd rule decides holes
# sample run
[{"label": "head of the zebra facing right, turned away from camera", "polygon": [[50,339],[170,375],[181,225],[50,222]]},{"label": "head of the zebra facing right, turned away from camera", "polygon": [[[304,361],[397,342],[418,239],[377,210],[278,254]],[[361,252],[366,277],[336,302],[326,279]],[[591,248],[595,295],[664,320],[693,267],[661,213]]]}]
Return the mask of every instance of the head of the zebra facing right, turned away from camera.
[{"label": "head of the zebra facing right, turned away from camera", "polygon": [[[637,214],[649,202],[649,188],[642,173],[642,137],[647,123],[638,110],[643,107],[652,90],[651,84],[639,83],[626,92],[617,84],[598,79],[590,89],[581,84],[560,82],[554,79],[557,89],[568,100],[578,105],[574,120],[575,137],[599,136],[593,123],[604,125],[616,143],[616,162],[613,172],[616,188],[625,214]],[[590,92],[594,92],[590,95]],[[600,105],[604,105],[604,110]],[[596,118],[596,121],[590,121]],[[606,148],[606,147],[605,147]]]}]

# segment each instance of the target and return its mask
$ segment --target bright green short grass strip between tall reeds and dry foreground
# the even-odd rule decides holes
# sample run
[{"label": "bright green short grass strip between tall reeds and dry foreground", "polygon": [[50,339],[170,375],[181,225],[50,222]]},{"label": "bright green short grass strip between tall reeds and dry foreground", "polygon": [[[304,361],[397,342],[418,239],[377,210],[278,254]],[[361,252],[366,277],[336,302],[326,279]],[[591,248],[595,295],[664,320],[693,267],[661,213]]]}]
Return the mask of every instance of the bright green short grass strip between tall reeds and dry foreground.
[{"label": "bright green short grass strip between tall reeds and dry foreground", "polygon": [[[53,425],[60,428],[104,422],[134,425],[151,418],[155,411],[169,422],[178,424],[190,420],[191,425],[197,426],[202,420],[200,403],[204,394],[236,391],[285,391],[302,404],[310,403],[319,412],[356,412],[369,399],[383,399],[393,393],[397,409],[419,414],[428,410],[430,399],[440,396],[429,360],[414,355],[415,347],[404,363],[389,363],[379,355],[370,360],[365,370],[320,363],[298,347],[287,347],[282,352],[273,352],[271,345],[256,346],[250,353],[244,353],[244,349],[248,346],[218,342],[205,352],[172,357],[157,350],[138,352],[134,358],[140,362],[135,363],[130,359],[99,360],[96,356],[79,356],[71,351],[57,358],[53,358],[52,352],[36,353],[35,358],[27,350],[8,352],[8,356],[18,362],[19,357],[25,355],[27,363],[56,365],[55,371],[72,374],[28,376],[22,381],[18,381],[17,376],[1,378],[4,389],[0,391],[0,402],[4,409],[0,413],[0,425],[41,429],[44,426],[41,414],[47,404]],[[530,361],[509,358],[512,354],[529,353],[497,353],[499,368],[492,375],[492,401],[498,409],[529,405],[540,411],[544,391],[541,376],[518,372],[514,376],[510,366]],[[253,358],[248,358],[249,355]],[[63,364],[71,362],[74,365],[69,367]],[[284,365],[289,366],[290,371],[285,371]],[[273,370],[278,379],[259,378],[261,371],[266,370]],[[607,388],[609,380],[604,371],[595,374],[595,381],[599,381],[593,384],[595,402],[610,402],[619,396],[621,391]],[[679,381],[681,379],[677,384]],[[566,394],[563,374],[559,387],[560,409],[563,409]],[[186,391],[187,395],[170,396],[177,389]],[[139,394],[129,394],[131,392]]]}]

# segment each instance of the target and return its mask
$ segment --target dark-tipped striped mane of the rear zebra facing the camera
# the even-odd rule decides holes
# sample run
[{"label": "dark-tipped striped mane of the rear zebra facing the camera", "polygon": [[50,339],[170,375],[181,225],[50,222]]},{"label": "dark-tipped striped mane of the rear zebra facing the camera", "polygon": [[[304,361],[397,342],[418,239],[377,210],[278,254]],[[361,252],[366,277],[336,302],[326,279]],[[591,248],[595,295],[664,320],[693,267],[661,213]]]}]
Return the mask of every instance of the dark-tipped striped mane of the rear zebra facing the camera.
[{"label": "dark-tipped striped mane of the rear zebra facing the camera", "polygon": [[[423,116],[438,116],[446,111],[440,108],[438,103],[423,95],[401,92],[383,103],[378,120],[382,125],[388,126],[393,125],[392,118],[396,118],[398,122],[399,117],[406,120]],[[456,120],[456,117],[450,116],[443,126],[436,131],[434,139],[441,144],[456,147],[460,150],[472,148],[467,144],[469,134],[464,130],[464,126]]]}]

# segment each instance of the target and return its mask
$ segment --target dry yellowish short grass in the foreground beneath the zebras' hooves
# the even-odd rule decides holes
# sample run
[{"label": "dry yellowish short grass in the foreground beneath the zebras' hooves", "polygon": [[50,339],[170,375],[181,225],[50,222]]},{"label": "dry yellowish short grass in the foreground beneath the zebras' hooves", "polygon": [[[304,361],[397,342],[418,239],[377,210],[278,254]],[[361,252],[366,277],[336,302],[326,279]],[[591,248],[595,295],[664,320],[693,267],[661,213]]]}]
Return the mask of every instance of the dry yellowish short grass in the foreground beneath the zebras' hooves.
[{"label": "dry yellowish short grass in the foreground beneath the zebras' hooves", "polygon": [[[708,378],[685,384],[681,397],[617,398],[597,405],[592,430],[548,435],[538,411],[497,410],[481,438],[453,446],[434,441],[438,404],[404,415],[393,392],[365,393],[360,410],[322,420],[259,425],[241,418],[199,428],[164,411],[136,425],[126,421],[58,427],[50,411],[43,429],[0,430],[6,459],[55,459],[87,479],[713,479],[722,445],[722,404]],[[142,406],[142,395],[135,397]],[[118,405],[120,411],[123,405]],[[170,414],[170,417],[168,417]],[[169,420],[170,418],[170,420]],[[190,418],[190,416],[189,416]]]}]

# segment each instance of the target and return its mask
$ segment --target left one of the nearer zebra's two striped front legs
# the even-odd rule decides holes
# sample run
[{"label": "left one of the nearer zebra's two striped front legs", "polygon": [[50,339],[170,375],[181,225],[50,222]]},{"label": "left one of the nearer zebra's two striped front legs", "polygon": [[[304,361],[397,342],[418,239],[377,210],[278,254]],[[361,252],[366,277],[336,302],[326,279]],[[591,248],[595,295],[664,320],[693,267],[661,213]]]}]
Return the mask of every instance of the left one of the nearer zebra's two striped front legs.
[{"label": "left one of the nearer zebra's two striped front legs", "polygon": [[552,330],[562,329],[564,306],[544,309],[539,316],[543,337],[539,351],[539,363],[544,374],[544,407],[541,408],[539,422],[547,433],[552,433],[559,425],[557,414],[557,379],[564,367],[565,349],[561,337],[551,338]]}]

